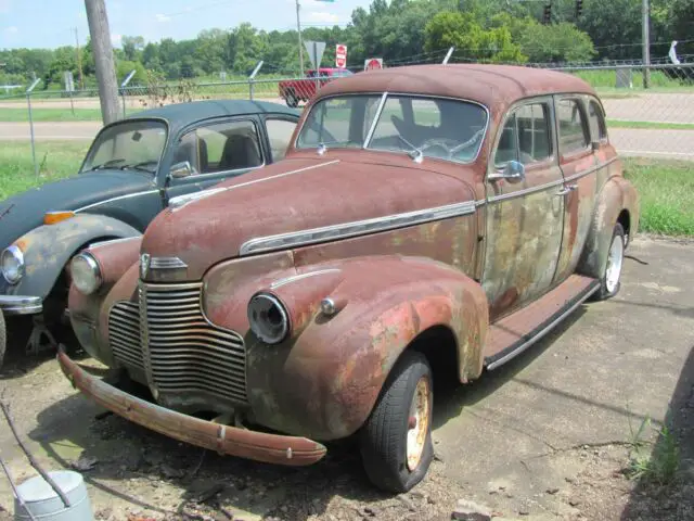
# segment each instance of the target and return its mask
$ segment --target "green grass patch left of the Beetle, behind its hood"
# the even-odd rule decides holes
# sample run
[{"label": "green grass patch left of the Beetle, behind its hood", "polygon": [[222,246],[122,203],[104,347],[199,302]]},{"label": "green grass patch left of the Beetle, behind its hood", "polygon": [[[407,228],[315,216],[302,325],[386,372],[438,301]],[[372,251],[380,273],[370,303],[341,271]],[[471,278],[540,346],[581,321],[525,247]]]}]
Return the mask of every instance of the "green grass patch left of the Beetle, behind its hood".
[{"label": "green grass patch left of the Beetle, behind its hood", "polygon": [[77,174],[89,149],[89,141],[43,141],[36,145],[40,173],[34,175],[31,144],[0,144],[0,201],[29,188]]}]

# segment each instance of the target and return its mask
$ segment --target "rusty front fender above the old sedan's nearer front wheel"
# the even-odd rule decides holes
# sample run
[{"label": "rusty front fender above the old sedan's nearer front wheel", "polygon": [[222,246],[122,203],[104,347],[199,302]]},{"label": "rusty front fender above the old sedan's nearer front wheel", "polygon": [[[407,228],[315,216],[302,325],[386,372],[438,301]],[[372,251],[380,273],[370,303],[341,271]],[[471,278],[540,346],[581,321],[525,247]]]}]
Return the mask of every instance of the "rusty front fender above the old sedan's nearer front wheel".
[{"label": "rusty front fender above the old sedan's nearer front wheel", "polygon": [[[248,332],[245,305],[253,291],[241,285],[236,292],[210,284],[216,295],[208,318],[245,336],[250,415],[278,431],[325,441],[352,434],[371,414],[402,351],[436,326],[449,328],[458,341],[460,379],[481,371],[488,328],[484,291],[442,263],[373,256],[275,272],[272,282],[254,290],[275,294],[287,307],[292,333],[278,345]],[[320,313],[324,297],[342,307],[336,315]]]}]

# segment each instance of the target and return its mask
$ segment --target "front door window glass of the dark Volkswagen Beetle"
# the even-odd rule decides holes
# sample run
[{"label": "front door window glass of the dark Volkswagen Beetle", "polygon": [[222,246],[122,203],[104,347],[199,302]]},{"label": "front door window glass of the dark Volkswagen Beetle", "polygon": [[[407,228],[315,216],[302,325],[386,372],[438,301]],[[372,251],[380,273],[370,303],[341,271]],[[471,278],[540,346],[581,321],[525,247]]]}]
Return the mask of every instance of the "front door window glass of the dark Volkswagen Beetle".
[{"label": "front door window glass of the dark Volkswagen Beetle", "polygon": [[194,174],[214,174],[262,165],[253,122],[229,122],[196,128],[183,136],[174,163],[189,161]]}]

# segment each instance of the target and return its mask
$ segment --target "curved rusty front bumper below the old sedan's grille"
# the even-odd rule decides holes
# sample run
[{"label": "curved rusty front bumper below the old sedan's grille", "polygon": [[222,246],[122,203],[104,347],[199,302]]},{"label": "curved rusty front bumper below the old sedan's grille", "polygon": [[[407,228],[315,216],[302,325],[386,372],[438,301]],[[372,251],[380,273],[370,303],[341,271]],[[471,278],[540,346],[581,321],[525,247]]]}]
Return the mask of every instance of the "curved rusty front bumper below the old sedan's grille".
[{"label": "curved rusty front bumper below the old sedan's grille", "polygon": [[99,405],[175,440],[220,454],[295,467],[314,463],[325,455],[325,447],[311,440],[222,425],[137,398],[92,377],[62,350],[57,360],[72,384]]}]

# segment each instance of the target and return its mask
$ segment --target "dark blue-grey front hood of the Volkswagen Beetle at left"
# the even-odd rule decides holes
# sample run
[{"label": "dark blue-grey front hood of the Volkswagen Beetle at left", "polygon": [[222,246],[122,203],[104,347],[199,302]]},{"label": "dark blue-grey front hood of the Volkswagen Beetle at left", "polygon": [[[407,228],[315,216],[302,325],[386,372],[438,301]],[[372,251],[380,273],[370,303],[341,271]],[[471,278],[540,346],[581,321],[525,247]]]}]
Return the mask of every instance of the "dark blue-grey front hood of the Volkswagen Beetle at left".
[{"label": "dark blue-grey front hood of the Volkswagen Beetle at left", "polygon": [[[98,170],[48,182],[0,201],[0,251],[43,224],[51,211],[78,209],[112,198],[155,188],[154,174]],[[94,208],[94,213],[99,209]]]}]

